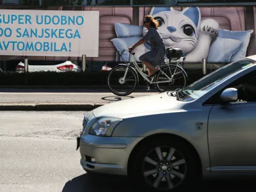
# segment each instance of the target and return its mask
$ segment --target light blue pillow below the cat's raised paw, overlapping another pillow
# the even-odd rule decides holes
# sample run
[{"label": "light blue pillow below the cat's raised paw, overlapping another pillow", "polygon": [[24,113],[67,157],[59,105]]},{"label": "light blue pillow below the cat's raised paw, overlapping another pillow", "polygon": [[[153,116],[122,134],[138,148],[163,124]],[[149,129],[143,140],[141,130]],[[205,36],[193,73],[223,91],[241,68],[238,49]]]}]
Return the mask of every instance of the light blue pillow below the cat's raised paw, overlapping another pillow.
[{"label": "light blue pillow below the cat's raised paw, overlapping another pillow", "polygon": [[236,54],[241,44],[239,40],[217,37],[211,44],[207,62],[230,63],[231,57]]}]

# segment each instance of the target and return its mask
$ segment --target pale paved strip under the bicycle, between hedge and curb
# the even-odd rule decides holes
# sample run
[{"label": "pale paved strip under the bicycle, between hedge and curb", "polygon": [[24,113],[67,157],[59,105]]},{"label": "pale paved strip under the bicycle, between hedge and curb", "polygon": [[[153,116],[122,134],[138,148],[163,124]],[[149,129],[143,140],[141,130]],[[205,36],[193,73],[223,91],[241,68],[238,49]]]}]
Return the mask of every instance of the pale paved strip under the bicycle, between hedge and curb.
[{"label": "pale paved strip under the bicycle, between hedge and curb", "polygon": [[102,104],[157,94],[157,90],[136,90],[131,95],[120,97],[108,89],[0,89],[0,104]]}]

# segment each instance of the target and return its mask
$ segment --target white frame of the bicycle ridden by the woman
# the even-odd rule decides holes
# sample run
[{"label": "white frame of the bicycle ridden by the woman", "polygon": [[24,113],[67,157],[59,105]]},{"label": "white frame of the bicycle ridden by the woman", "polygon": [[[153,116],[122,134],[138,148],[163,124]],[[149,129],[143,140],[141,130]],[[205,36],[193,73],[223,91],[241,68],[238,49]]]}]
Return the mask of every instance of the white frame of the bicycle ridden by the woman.
[{"label": "white frame of the bicycle ridden by the woman", "polygon": [[[145,80],[146,80],[148,83],[150,83],[150,84],[156,84],[156,83],[170,83],[170,81],[172,81],[172,78],[173,78],[173,76],[175,75],[175,72],[176,72],[176,70],[177,70],[178,67],[181,68],[181,69],[184,71],[184,69],[182,68],[182,66],[180,66],[180,64],[179,64],[179,61],[177,61],[177,65],[176,65],[174,74],[172,74],[172,72],[171,72],[171,70],[170,70],[170,65],[168,65],[169,70],[170,70],[170,73],[171,73],[171,75],[172,75],[172,77],[170,78],[170,77],[168,77],[168,76],[163,72],[163,70],[161,70],[161,67],[158,67],[158,66],[157,66],[156,68],[157,68],[157,70],[159,70],[157,73],[162,72],[162,73],[164,74],[164,76],[166,76],[166,77],[168,78],[169,81],[153,82],[153,81],[154,81],[154,78],[156,77],[156,75],[153,76],[151,79],[148,78],[149,76],[148,76],[147,74],[145,74],[145,73],[140,69],[140,67],[138,66],[138,64],[137,64],[137,62],[136,62],[136,60],[135,60],[135,58],[134,58],[134,55],[130,53],[130,54],[129,54],[129,62],[125,61],[125,64],[124,64],[124,65],[127,65],[127,68],[126,68],[126,70],[125,70],[125,74],[124,74],[124,77],[123,77],[124,79],[125,79],[125,77],[126,77],[126,75],[127,75],[128,68],[130,67],[131,64],[134,65],[134,67],[136,68],[136,70],[138,70],[139,74],[143,77],[143,79],[145,79]],[[121,65],[122,65],[122,64],[121,64]],[[186,72],[185,72],[185,74],[186,74]],[[187,74],[186,74],[186,75],[187,75]],[[137,74],[137,77],[138,77],[138,74]]]}]

